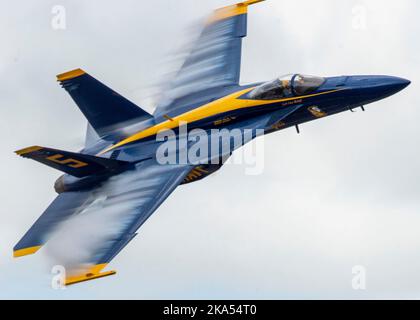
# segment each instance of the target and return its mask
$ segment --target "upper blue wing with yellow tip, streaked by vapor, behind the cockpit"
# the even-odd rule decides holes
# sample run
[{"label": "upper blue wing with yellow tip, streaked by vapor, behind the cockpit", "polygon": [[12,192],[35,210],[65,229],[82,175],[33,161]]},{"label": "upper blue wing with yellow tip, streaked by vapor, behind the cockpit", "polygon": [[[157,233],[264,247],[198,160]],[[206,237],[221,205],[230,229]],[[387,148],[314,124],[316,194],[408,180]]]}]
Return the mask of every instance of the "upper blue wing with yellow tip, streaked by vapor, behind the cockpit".
[{"label": "upper blue wing with yellow tip, streaked by vapor, behind the cockpit", "polygon": [[189,56],[163,93],[156,117],[174,116],[186,105],[201,102],[211,88],[239,84],[248,6],[261,1],[264,0],[223,7],[208,18]]}]

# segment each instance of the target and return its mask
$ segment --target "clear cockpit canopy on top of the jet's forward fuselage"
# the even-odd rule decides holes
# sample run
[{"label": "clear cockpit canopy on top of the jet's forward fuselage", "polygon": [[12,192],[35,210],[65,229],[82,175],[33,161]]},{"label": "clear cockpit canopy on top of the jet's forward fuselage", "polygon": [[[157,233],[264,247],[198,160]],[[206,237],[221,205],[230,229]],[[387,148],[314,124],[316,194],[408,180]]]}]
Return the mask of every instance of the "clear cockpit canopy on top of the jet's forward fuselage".
[{"label": "clear cockpit canopy on top of the jet's forward fuselage", "polygon": [[286,75],[263,83],[249,93],[251,99],[277,100],[302,96],[318,89],[325,79],[302,74]]}]

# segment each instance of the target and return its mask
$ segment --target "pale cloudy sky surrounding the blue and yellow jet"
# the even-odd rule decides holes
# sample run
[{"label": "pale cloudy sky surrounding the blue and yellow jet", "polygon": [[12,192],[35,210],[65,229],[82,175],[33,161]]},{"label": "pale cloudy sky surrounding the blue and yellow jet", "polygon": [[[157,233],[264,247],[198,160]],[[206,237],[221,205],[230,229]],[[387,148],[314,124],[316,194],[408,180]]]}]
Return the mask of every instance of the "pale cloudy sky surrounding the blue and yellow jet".
[{"label": "pale cloudy sky surrounding the blue and yellow jet", "polygon": [[[265,168],[181,187],[111,263],[118,275],[50,287],[43,251],[12,247],[54,199],[58,172],[14,150],[82,146],[85,119],[55,82],[81,67],[145,109],[198,18],[229,0],[0,0],[1,298],[420,298],[420,3],[268,0],[252,7],[242,82],[387,74],[404,92],[266,137]],[[51,9],[66,8],[66,30]],[[366,12],[355,29],[353,9]],[[367,270],[354,291],[352,268]]]}]

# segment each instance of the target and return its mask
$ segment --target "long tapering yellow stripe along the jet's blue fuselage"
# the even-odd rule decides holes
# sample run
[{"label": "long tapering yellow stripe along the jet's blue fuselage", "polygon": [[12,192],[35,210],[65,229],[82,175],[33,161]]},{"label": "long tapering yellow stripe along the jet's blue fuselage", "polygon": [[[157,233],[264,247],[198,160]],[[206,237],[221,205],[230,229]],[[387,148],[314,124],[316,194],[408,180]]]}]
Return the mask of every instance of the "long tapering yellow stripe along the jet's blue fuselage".
[{"label": "long tapering yellow stripe along the jet's blue fuselage", "polygon": [[158,124],[156,124],[156,125],[154,125],[150,128],[147,128],[143,131],[140,131],[138,133],[133,134],[132,136],[118,142],[117,144],[114,144],[114,145],[106,148],[105,150],[101,151],[98,155],[107,153],[111,150],[114,150],[114,149],[119,148],[121,146],[124,146],[126,144],[129,144],[129,143],[132,143],[132,142],[135,142],[135,141],[139,141],[139,140],[147,138],[147,137],[154,136],[154,135],[158,134],[159,132],[169,130],[169,129],[178,128],[181,123],[182,124],[193,123],[193,122],[197,122],[199,120],[203,120],[203,119],[206,119],[206,118],[218,115],[218,114],[222,114],[222,113],[225,113],[225,112],[229,112],[229,111],[258,107],[258,106],[263,106],[263,105],[268,105],[268,104],[273,104],[273,103],[279,103],[279,102],[285,102],[285,101],[300,100],[300,99],[304,99],[304,98],[320,96],[320,95],[324,95],[324,94],[328,94],[328,93],[332,93],[332,92],[336,92],[336,91],[341,90],[341,89],[338,89],[338,90],[326,91],[326,92],[321,92],[321,93],[315,93],[315,94],[311,94],[311,95],[307,95],[307,96],[300,96],[300,97],[298,96],[298,97],[284,98],[284,99],[279,99],[279,100],[238,99],[239,97],[241,97],[242,95],[250,92],[253,89],[255,89],[255,87],[237,91],[237,92],[232,93],[230,95],[227,95],[223,98],[220,98],[218,100],[215,100],[215,101],[212,101],[208,104],[205,104],[201,107],[198,107],[194,110],[185,112],[185,113],[183,113],[183,114],[181,114],[177,117],[172,118],[171,120],[167,120],[167,121],[158,123]]}]

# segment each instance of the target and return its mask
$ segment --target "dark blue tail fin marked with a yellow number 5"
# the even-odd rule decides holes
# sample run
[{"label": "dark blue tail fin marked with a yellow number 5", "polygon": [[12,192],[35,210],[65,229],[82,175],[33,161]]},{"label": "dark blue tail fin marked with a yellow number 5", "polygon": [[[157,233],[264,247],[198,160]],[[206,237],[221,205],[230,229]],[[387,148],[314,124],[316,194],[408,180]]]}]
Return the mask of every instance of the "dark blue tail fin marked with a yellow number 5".
[{"label": "dark blue tail fin marked with a yellow number 5", "polygon": [[24,158],[33,159],[78,178],[101,174],[106,171],[117,171],[129,164],[125,161],[38,146],[25,148],[16,151],[16,153]]}]

